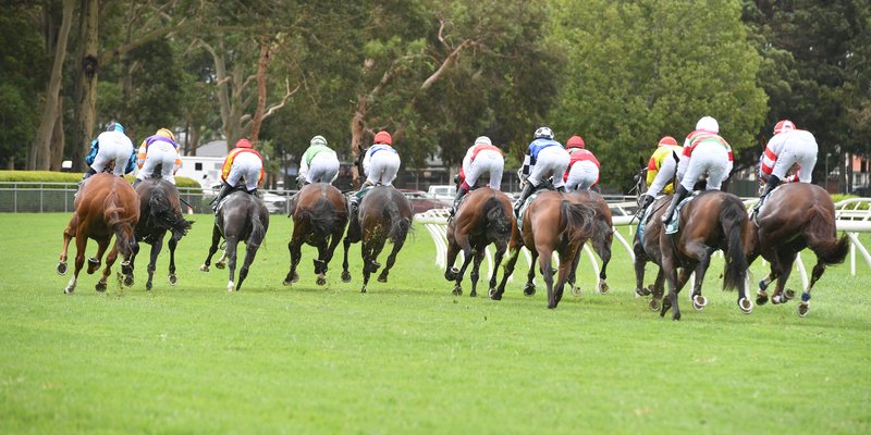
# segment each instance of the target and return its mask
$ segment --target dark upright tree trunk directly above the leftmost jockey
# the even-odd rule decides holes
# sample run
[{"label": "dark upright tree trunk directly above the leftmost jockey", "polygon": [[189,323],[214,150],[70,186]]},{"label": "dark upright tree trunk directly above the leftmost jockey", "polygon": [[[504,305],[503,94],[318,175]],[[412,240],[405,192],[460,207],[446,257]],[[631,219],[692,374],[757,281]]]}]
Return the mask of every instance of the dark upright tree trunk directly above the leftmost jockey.
[{"label": "dark upright tree trunk directly above the leftmost jockey", "polygon": [[97,119],[97,72],[99,69],[99,0],[82,0],[76,61],[75,116],[73,128],[73,170],[84,171],[94,124]]}]

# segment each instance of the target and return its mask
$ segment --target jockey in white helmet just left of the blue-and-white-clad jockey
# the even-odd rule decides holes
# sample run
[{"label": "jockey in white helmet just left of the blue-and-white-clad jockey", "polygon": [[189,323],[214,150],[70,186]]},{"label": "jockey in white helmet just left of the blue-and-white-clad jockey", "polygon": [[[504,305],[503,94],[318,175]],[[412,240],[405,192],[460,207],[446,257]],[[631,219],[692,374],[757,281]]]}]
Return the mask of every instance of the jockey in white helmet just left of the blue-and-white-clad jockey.
[{"label": "jockey in white helmet just left of the blue-and-white-clad jockey", "polygon": [[481,136],[475,139],[475,145],[469,147],[468,151],[466,151],[466,157],[463,158],[463,167],[459,170],[462,184],[456,189],[456,198],[454,198],[454,207],[451,208],[451,215],[454,215],[463,196],[477,187],[481,175],[489,174],[490,182],[487,185],[491,189],[500,190],[502,188],[502,171],[504,167],[505,158],[502,156],[502,151],[493,146],[489,137]]}]

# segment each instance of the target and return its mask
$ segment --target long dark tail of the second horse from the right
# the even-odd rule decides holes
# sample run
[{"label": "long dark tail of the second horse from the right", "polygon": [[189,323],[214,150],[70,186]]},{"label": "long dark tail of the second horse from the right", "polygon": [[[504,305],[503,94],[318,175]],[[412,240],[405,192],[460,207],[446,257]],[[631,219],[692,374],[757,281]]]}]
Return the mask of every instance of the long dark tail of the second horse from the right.
[{"label": "long dark tail of the second horse from the right", "polygon": [[747,252],[744,250],[744,231],[747,225],[747,209],[735,196],[723,198],[720,208],[720,227],[726,236],[726,265],[723,273],[723,289],[740,288],[747,281]]}]

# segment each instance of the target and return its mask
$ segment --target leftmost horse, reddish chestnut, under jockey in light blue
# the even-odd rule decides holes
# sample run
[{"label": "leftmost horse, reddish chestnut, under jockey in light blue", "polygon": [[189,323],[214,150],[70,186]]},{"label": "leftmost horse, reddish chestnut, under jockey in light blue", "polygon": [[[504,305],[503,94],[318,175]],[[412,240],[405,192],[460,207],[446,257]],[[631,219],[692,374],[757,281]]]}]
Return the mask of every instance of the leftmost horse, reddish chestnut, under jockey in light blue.
[{"label": "leftmost horse, reddish chestnut, under jockey in light blue", "polygon": [[123,257],[119,284],[133,285],[133,268],[130,260],[136,246],[133,228],[139,220],[139,199],[130,183],[112,174],[96,174],[82,186],[74,202],[75,212],[63,231],[63,250],[58,263],[58,274],[66,274],[66,251],[70,240],[75,237],[75,271],[64,293],[75,290],[78,273],[85,264],[85,249],[88,238],[97,241],[97,256],[88,259],[88,274],[100,269],[100,262],[112,236],[115,243],[106,257],[106,269],[97,283],[97,291],[106,291],[106,281],[111,274],[112,264],[119,252]]}]

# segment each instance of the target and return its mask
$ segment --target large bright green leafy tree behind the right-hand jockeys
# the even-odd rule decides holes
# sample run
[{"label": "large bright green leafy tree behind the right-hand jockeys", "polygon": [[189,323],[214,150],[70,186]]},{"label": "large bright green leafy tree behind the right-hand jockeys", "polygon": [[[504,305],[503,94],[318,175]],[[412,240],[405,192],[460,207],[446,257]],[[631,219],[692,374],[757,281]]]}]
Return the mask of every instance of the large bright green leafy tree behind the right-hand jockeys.
[{"label": "large bright green leafy tree behind the right-hand jockeys", "polygon": [[759,54],[739,4],[704,4],[560,2],[554,37],[567,63],[553,127],[563,140],[585,138],[603,185],[628,187],[638,157],[662,136],[679,140],[703,115],[717,119],[734,150],[753,142],[766,110]]}]

